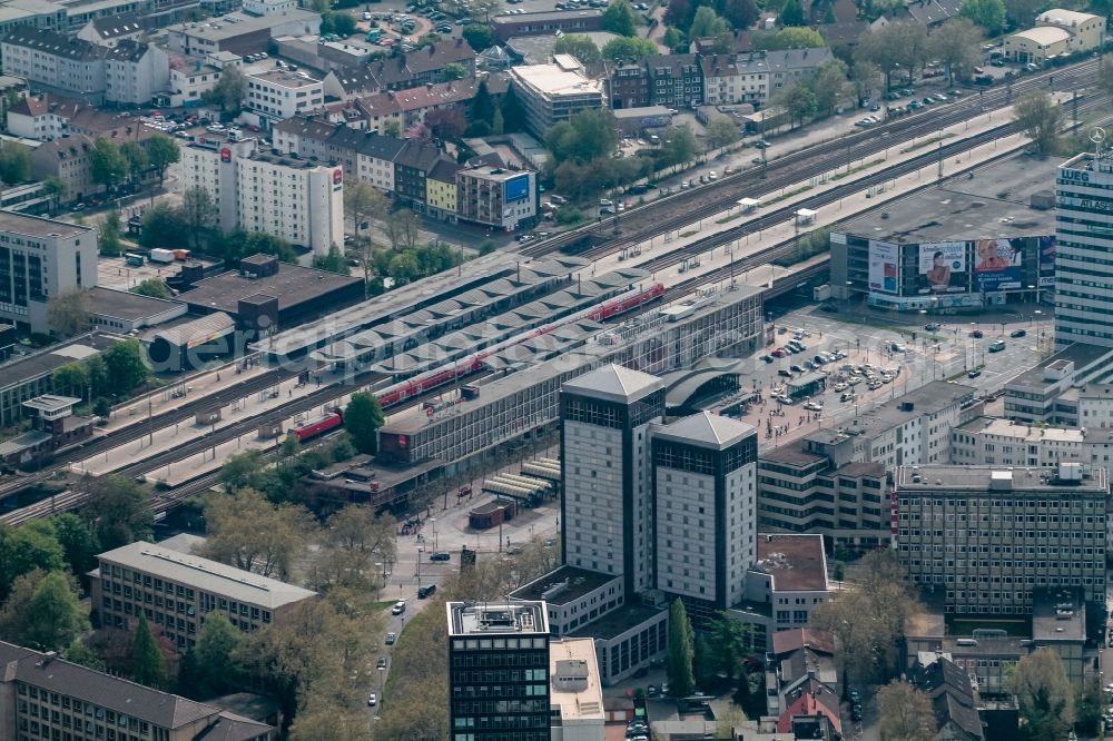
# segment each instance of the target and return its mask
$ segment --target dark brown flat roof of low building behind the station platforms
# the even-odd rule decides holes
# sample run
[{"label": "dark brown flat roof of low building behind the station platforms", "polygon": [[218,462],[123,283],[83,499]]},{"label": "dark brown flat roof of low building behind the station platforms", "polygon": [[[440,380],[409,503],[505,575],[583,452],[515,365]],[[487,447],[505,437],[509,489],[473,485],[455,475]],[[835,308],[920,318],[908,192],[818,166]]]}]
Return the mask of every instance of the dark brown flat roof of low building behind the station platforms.
[{"label": "dark brown flat roof of low building behind the station platforms", "polygon": [[334,290],[356,285],[361,280],[362,278],[356,276],[280,263],[278,273],[270,276],[247,278],[232,270],[198,280],[191,290],[179,294],[178,300],[189,304],[190,307],[204,307],[206,310],[226,312],[236,316],[240,298],[266,294],[278,298],[278,310],[283,312]]}]

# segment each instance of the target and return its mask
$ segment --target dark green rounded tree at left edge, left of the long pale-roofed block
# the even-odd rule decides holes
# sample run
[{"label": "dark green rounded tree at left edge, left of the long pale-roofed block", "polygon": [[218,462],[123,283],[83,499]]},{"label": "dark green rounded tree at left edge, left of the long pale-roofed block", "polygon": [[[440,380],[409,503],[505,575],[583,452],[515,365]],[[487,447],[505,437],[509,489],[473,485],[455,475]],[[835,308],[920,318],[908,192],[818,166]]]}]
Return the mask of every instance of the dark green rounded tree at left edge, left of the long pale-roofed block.
[{"label": "dark green rounded tree at left edge, left of the long pale-roofed block", "polygon": [[23,574],[0,610],[0,635],[40,651],[61,651],[88,628],[72,577],[60,571]]}]

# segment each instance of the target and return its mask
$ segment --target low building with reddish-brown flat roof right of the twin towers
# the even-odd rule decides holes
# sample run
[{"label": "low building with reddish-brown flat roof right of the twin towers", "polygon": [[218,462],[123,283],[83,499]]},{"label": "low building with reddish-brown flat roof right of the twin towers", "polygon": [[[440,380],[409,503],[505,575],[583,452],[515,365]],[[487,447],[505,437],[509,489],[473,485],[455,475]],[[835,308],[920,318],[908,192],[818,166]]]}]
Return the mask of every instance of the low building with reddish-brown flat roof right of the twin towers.
[{"label": "low building with reddish-brown flat roof right of the twin towers", "polygon": [[830,592],[823,535],[761,533],[741,599],[727,614],[752,625],[754,649],[765,651],[777,631],[807,625]]}]

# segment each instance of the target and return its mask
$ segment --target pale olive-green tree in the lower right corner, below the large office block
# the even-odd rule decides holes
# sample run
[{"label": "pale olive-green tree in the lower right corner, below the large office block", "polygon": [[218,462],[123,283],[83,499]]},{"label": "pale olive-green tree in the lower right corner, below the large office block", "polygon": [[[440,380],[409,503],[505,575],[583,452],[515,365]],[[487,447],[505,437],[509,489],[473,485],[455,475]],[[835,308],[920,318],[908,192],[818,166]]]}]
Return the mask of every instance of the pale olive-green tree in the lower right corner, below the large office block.
[{"label": "pale olive-green tree in the lower right corner, below the large office block", "polygon": [[1025,739],[1062,739],[1074,723],[1074,693],[1054,649],[1036,649],[1021,659],[1012,678]]}]

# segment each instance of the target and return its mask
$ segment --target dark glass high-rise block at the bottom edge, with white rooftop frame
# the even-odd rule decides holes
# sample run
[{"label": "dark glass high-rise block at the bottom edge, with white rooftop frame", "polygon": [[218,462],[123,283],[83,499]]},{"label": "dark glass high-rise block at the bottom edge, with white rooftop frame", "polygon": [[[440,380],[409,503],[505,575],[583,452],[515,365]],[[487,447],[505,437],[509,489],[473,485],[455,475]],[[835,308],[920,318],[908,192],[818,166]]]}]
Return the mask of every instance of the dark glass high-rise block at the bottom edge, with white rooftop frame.
[{"label": "dark glass high-rise block at the bottom edge, with white rooftop frame", "polygon": [[545,603],[449,602],[445,609],[452,741],[550,741]]}]

